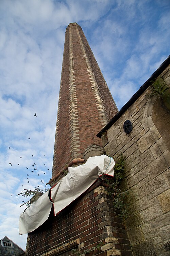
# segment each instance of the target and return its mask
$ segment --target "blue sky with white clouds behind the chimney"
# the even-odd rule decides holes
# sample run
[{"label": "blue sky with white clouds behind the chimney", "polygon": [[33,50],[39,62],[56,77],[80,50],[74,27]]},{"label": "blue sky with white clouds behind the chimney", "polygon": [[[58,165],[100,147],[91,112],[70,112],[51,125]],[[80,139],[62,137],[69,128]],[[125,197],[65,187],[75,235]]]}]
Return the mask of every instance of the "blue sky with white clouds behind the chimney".
[{"label": "blue sky with white clouds behind the chimney", "polygon": [[28,199],[16,195],[51,177],[68,24],[82,27],[120,110],[168,57],[169,17],[169,0],[0,0],[0,239],[25,250]]}]

